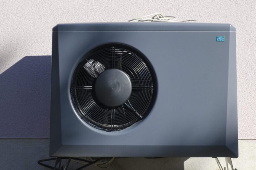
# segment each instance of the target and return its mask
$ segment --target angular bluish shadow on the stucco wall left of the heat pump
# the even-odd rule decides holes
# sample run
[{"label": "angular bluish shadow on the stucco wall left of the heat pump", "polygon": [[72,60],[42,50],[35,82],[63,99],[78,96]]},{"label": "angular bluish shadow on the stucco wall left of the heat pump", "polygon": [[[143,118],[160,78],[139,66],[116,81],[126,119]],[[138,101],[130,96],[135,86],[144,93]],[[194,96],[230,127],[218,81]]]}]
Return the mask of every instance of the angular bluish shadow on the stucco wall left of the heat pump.
[{"label": "angular bluish shadow on the stucco wall left of the heat pump", "polygon": [[48,138],[51,56],[26,56],[0,74],[0,138]]}]

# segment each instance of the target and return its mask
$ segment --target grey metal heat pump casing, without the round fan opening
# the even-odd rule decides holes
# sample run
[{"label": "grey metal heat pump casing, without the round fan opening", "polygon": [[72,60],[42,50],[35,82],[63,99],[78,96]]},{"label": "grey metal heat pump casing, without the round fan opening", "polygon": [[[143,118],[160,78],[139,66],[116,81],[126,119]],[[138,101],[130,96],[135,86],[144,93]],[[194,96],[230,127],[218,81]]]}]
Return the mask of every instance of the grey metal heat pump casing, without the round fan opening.
[{"label": "grey metal heat pump casing, without the round fan opening", "polygon": [[[225,36],[225,42],[216,42]],[[53,28],[50,156],[238,157],[235,28],[205,23],[84,23]],[[142,52],[157,76],[149,115],[122,131],[91,127],[70,97],[74,70],[105,43]]]}]

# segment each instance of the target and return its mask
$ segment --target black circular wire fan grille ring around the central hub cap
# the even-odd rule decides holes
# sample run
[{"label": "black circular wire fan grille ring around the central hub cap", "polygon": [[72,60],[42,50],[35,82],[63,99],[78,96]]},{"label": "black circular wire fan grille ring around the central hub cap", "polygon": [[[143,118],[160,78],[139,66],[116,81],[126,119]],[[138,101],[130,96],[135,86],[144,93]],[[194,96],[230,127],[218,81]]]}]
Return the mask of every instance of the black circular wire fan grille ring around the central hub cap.
[{"label": "black circular wire fan grille ring around the central hub cap", "polygon": [[[129,50],[128,50],[129,49]],[[125,72],[132,84],[131,96],[120,106],[108,107],[95,96],[95,81],[107,69]],[[154,104],[156,79],[147,59],[135,49],[117,45],[93,50],[77,66],[70,93],[81,118],[95,128],[118,131],[145,118]]]}]

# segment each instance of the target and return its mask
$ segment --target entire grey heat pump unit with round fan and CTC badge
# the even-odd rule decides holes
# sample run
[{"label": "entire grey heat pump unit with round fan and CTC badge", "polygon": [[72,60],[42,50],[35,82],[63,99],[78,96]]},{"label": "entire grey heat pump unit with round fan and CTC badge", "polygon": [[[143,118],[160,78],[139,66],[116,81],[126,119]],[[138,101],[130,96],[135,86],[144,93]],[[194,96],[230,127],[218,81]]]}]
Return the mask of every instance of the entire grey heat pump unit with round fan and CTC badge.
[{"label": "entire grey heat pump unit with round fan and CTC badge", "polygon": [[53,28],[50,156],[238,157],[235,28]]}]

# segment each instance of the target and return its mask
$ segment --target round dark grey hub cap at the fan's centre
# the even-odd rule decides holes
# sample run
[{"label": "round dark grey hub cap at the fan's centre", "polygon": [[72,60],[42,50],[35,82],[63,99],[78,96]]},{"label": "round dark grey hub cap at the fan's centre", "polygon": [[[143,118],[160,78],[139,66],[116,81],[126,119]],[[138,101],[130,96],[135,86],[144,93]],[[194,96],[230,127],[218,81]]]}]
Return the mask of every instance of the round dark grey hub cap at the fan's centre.
[{"label": "round dark grey hub cap at the fan's centre", "polygon": [[103,105],[122,105],[131,95],[131,80],[122,70],[107,69],[96,79],[95,94]]}]

